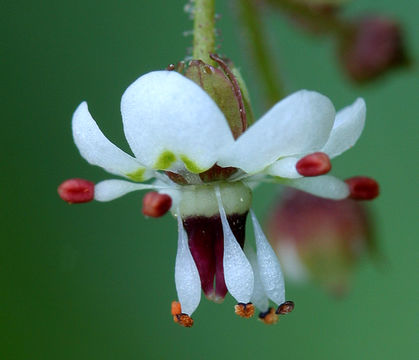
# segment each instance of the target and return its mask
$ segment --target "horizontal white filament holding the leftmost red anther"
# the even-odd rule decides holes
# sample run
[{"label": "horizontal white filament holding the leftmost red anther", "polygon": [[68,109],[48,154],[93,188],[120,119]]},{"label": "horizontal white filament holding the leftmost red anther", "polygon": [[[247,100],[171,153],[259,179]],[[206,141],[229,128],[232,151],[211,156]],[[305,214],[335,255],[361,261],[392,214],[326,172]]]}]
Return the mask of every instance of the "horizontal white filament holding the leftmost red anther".
[{"label": "horizontal white filament holding the leftmost red anther", "polygon": [[111,201],[132,191],[155,188],[154,185],[136,184],[124,180],[104,180],[95,185],[95,200]]}]

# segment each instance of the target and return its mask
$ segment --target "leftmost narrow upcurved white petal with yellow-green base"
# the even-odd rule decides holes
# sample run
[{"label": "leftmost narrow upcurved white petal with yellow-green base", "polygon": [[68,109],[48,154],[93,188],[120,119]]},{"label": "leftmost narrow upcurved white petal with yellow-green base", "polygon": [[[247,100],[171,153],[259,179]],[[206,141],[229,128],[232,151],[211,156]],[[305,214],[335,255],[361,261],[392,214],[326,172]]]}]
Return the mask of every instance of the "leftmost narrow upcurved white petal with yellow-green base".
[{"label": "leftmost narrow upcurved white petal with yellow-green base", "polygon": [[[92,165],[106,171],[141,181],[147,180],[146,169],[136,159],[112,144],[103,135],[92,115],[87,103],[82,102],[73,115],[73,137],[80,154]],[[137,175],[136,175],[137,174]],[[148,174],[150,175],[150,174]]]}]

